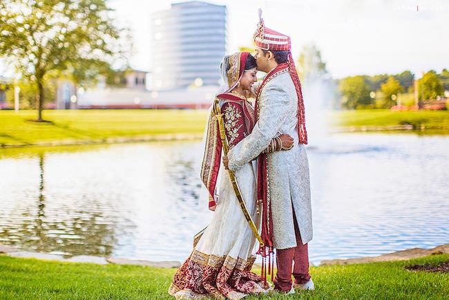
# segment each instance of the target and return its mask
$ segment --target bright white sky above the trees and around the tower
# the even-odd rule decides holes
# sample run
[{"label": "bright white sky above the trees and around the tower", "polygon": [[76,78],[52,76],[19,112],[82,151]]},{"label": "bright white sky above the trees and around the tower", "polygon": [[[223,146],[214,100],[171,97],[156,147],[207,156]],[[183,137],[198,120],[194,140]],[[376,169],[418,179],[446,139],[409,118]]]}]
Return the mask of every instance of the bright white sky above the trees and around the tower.
[{"label": "bright white sky above the trees and around the tower", "polygon": [[[333,77],[449,68],[447,0],[211,0],[227,6],[228,51],[251,46],[262,8],[265,26],[292,37],[295,59],[316,44]],[[134,37],[133,68],[151,71],[151,12],[172,1],[111,0]]]}]

